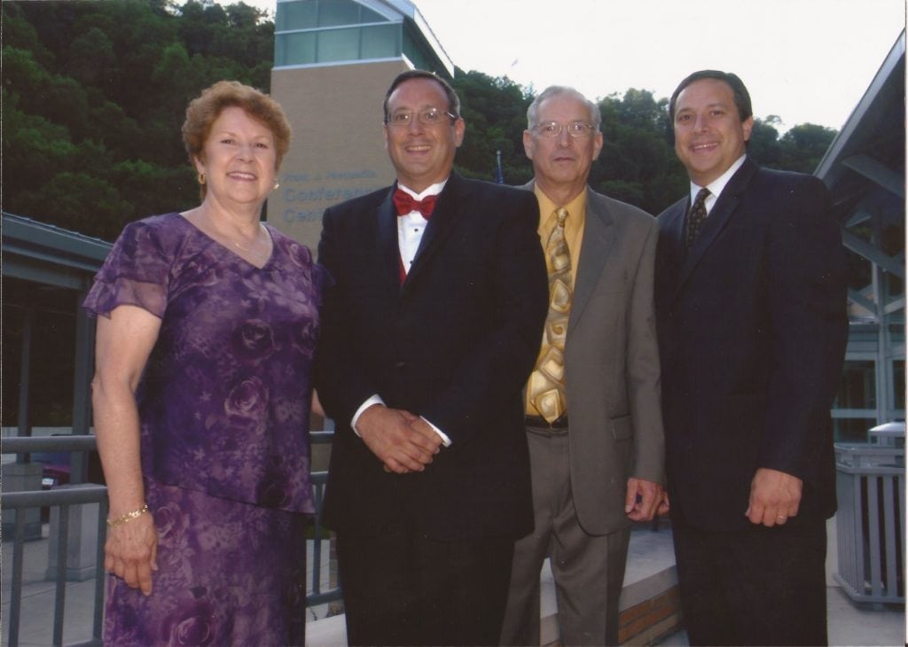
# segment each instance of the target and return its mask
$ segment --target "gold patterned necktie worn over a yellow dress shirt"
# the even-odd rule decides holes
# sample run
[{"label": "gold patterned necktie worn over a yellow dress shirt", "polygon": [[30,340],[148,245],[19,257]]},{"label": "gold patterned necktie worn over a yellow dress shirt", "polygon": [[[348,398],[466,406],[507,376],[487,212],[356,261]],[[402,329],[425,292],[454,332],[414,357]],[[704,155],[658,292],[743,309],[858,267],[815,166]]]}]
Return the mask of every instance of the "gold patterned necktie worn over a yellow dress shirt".
[{"label": "gold patterned necktie worn over a yellow dress shirt", "polygon": [[530,403],[549,424],[568,410],[564,353],[573,296],[570,251],[565,240],[568,210],[562,207],[555,211],[555,215],[558,217],[558,224],[552,229],[546,242],[546,255],[551,263],[551,270],[548,273],[548,318],[545,330],[548,349],[545,355],[538,359],[536,370],[529,376],[527,385]]}]

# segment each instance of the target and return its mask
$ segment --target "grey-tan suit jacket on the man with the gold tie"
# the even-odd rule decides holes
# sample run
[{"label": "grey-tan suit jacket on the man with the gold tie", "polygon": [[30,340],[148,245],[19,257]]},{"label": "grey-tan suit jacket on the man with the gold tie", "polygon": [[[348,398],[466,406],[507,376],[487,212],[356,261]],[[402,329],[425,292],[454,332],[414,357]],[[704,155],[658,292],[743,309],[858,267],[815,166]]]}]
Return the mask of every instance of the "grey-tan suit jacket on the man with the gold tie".
[{"label": "grey-tan suit jacket on the man with the gold tie", "polygon": [[[524,187],[532,190],[533,183]],[[587,188],[565,341],[570,478],[588,534],[630,524],[627,478],[662,483],[656,219]]]}]

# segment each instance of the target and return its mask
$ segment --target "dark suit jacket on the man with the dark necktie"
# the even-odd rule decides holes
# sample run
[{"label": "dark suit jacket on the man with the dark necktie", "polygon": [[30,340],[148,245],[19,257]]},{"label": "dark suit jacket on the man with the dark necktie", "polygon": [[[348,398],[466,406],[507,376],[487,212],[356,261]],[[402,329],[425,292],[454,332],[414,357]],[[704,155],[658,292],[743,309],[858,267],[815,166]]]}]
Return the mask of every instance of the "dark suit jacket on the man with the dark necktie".
[{"label": "dark suit jacket on the man with the dark necktie", "polygon": [[829,409],[847,338],[844,250],[828,191],[745,160],[684,252],[690,200],[659,215],[656,317],[673,514],[748,527],[751,480],[804,480],[789,523],[835,510]]}]

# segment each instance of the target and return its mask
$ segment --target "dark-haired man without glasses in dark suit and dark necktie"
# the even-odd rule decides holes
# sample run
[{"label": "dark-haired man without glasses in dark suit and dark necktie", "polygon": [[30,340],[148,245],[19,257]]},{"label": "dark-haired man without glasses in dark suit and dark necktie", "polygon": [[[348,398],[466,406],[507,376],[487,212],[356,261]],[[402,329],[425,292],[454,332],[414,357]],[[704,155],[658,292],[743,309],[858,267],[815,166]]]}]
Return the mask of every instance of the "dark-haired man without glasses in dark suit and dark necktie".
[{"label": "dark-haired man without glasses in dark suit and dark necktie", "polygon": [[822,181],[747,158],[754,121],[735,74],[691,74],[669,113],[691,188],[658,218],[656,321],[688,636],[825,644],[839,227]]}]

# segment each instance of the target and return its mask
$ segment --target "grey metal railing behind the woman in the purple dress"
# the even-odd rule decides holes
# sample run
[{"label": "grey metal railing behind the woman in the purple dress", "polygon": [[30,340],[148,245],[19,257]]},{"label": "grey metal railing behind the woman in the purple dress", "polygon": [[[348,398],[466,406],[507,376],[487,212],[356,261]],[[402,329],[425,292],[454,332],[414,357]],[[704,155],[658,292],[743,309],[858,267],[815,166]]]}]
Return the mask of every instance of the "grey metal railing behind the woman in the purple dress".
[{"label": "grey metal railing behind the woman in the purple dress", "polygon": [[[333,432],[319,431],[311,433],[312,444],[331,444]],[[3,454],[34,454],[40,452],[94,452],[94,436],[44,436],[3,438],[0,452]],[[321,586],[321,554],[323,529],[321,526],[321,504],[324,498],[327,472],[313,472],[311,483],[314,489],[316,515],[314,520],[314,541],[312,559],[309,564],[312,593],[306,596],[306,606],[337,602],[343,599],[340,586],[333,586],[323,591]],[[80,485],[78,488],[60,488],[48,491],[2,492],[0,507],[5,511],[15,511],[15,530],[13,537],[13,564],[10,578],[9,613],[5,618],[8,627],[9,647],[19,644],[21,628],[23,566],[25,563],[25,511],[34,508],[59,508],[59,523],[55,528],[56,536],[56,571],[54,588],[54,645],[63,645],[64,612],[66,602],[66,569],[69,547],[69,510],[72,505],[94,505],[98,507],[97,546],[94,563],[94,613],[92,638],[85,642],[70,643],[70,647],[102,644],[104,624],[104,540],[106,537],[107,487],[104,485]],[[52,528],[52,533],[54,529]]]}]

